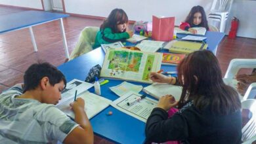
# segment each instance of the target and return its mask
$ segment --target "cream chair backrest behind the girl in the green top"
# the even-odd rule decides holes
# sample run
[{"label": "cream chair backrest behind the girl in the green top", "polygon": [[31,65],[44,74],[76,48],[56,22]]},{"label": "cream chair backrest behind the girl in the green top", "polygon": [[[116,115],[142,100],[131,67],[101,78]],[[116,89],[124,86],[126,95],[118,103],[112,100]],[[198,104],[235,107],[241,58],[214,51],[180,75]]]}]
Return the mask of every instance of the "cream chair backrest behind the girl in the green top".
[{"label": "cream chair backrest behind the girl in the green top", "polygon": [[95,45],[96,33],[100,30],[100,27],[85,27],[79,35],[79,40],[75,45],[74,50],[70,54],[70,60],[73,60],[77,56],[81,56],[91,50]]}]

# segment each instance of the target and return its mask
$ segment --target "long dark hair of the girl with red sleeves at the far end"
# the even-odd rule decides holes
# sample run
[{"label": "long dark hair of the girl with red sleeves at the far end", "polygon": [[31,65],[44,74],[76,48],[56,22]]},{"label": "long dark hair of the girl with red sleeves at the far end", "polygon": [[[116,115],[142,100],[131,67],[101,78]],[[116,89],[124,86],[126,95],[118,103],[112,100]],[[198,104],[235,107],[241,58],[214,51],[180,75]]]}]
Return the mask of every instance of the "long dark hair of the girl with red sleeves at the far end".
[{"label": "long dark hair of the girl with red sleeves at the far end", "polygon": [[205,27],[205,29],[209,30],[209,26],[208,26],[205,11],[204,11],[203,7],[201,7],[200,5],[192,7],[188,16],[186,16],[185,22],[187,22],[188,24],[190,24],[190,26],[192,26],[193,25],[193,20],[194,20],[194,14],[196,12],[200,12],[202,14],[202,22],[199,24],[199,26],[200,27]]}]

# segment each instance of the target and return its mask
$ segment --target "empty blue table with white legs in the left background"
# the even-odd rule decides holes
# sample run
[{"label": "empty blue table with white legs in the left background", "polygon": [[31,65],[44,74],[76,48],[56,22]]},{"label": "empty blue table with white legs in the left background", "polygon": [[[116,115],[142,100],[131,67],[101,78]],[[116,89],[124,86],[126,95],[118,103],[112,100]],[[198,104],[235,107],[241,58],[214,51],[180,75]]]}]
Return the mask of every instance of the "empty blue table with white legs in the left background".
[{"label": "empty blue table with white legs in the left background", "polygon": [[62,21],[62,18],[66,18],[68,16],[68,14],[58,14],[53,12],[35,10],[5,14],[0,16],[0,34],[28,27],[30,29],[30,35],[34,51],[37,52],[37,45],[35,43],[35,37],[33,35],[32,27],[39,24],[44,24],[46,22],[52,22],[53,20],[60,20],[64,50],[66,52],[66,58],[69,58],[70,54],[68,53],[68,45]]}]

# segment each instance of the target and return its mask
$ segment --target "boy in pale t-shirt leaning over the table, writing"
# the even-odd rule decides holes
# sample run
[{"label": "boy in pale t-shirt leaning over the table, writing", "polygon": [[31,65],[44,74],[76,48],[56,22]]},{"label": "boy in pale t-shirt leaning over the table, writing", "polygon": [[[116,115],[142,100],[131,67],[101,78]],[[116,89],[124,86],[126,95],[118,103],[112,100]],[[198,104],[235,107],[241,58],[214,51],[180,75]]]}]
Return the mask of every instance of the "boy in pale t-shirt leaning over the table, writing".
[{"label": "boy in pale t-shirt leaning over the table, writing", "polygon": [[0,143],[93,143],[85,102],[70,103],[75,121],[54,105],[66,86],[64,75],[50,63],[35,63],[16,84],[0,94]]}]

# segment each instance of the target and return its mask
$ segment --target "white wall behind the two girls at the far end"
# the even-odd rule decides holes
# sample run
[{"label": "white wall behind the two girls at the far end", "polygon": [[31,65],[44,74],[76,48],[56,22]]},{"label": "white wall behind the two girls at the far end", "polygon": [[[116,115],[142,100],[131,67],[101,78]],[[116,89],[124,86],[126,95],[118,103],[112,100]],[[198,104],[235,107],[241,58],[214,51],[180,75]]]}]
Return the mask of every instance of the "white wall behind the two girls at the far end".
[{"label": "white wall behind the two girls at the far end", "polygon": [[64,0],[66,12],[107,17],[112,9],[121,8],[129,20],[151,21],[152,15],[175,16],[175,25],[183,21],[195,5],[208,14],[213,0]]}]

